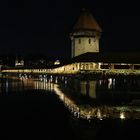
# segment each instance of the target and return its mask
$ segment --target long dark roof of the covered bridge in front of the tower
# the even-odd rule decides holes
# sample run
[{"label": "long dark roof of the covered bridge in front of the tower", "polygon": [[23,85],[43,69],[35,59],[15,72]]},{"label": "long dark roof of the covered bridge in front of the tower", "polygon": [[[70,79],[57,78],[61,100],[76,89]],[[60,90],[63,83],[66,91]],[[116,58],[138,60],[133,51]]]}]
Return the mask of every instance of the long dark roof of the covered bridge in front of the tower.
[{"label": "long dark roof of the covered bridge in front of the tower", "polygon": [[137,63],[140,64],[140,53],[104,52],[85,53],[74,57],[72,62],[103,62],[103,63]]}]

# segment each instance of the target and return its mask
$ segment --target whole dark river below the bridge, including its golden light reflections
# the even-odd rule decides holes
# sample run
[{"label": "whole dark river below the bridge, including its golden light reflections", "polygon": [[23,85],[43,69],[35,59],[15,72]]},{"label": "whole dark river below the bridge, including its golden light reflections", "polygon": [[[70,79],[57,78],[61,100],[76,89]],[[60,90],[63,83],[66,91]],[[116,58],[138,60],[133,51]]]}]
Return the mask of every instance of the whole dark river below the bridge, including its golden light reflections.
[{"label": "whole dark river below the bridge, including its golden light reflections", "polygon": [[135,139],[139,78],[0,79],[1,134],[14,139]]}]

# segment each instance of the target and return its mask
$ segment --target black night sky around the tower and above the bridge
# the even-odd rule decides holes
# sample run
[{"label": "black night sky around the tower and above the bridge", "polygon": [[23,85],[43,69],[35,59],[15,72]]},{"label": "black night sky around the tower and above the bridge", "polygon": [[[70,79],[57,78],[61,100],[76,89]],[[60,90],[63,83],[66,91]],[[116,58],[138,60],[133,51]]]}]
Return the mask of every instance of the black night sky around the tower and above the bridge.
[{"label": "black night sky around the tower and above the bridge", "polygon": [[69,33],[83,7],[103,29],[103,51],[140,51],[135,1],[9,0],[0,4],[0,55],[70,57]]}]

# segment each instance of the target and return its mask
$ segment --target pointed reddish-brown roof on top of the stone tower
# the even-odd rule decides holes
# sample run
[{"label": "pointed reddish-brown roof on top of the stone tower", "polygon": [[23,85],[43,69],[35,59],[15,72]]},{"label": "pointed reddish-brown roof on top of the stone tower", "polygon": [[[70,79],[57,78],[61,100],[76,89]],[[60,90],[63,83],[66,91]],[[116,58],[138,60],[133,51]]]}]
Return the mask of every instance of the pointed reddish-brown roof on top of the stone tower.
[{"label": "pointed reddish-brown roof on top of the stone tower", "polygon": [[97,32],[102,32],[101,27],[87,9],[82,9],[82,13],[73,30],[95,30]]}]

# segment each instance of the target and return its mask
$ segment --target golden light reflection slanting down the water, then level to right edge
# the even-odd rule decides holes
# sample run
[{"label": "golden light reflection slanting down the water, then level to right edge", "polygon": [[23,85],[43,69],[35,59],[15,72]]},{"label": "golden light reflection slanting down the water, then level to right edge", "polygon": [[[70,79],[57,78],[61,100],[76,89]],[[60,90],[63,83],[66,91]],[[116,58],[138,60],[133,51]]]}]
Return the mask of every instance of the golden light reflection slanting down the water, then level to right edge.
[{"label": "golden light reflection slanting down the water, then level to right edge", "polygon": [[105,118],[131,118],[140,119],[139,107],[133,106],[96,106],[90,105],[77,105],[73,100],[65,96],[60,90],[59,86],[54,84],[54,91],[64,102],[64,104],[71,110],[75,117],[81,117],[85,119],[98,118],[100,120]]}]

